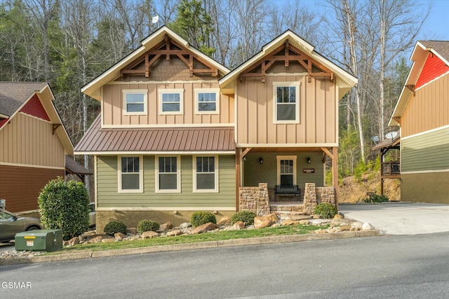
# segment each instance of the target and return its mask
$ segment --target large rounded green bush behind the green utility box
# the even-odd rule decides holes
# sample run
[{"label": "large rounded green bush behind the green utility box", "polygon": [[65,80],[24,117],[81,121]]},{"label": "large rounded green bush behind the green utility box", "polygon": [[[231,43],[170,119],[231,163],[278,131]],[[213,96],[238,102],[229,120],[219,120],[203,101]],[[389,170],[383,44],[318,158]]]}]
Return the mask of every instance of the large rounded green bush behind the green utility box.
[{"label": "large rounded green bush behind the green utility box", "polygon": [[81,182],[53,179],[43,187],[37,202],[42,225],[62,230],[62,239],[67,241],[88,230],[89,196]]}]

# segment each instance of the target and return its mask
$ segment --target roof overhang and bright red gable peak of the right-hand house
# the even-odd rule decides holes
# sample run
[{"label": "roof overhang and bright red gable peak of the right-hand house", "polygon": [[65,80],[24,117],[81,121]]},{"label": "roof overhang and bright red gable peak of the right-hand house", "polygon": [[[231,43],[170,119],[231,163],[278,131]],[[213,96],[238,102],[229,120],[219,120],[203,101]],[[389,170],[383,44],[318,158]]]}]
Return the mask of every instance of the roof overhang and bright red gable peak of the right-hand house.
[{"label": "roof overhang and bright red gable peak of the right-hand house", "polygon": [[417,41],[410,57],[413,65],[394,107],[390,126],[398,125],[413,92],[436,78],[449,74],[449,41]]}]

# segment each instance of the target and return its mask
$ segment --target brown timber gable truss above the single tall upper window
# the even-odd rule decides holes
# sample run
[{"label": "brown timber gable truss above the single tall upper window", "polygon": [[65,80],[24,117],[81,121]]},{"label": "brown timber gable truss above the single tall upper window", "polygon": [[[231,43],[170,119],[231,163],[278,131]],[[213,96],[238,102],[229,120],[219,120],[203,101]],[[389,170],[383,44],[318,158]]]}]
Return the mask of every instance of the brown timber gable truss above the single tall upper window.
[{"label": "brown timber gable truss above the single tall upper window", "polygon": [[311,59],[299,49],[295,48],[295,46],[290,45],[287,40],[286,43],[274,50],[272,54],[264,57],[260,64],[254,64],[253,67],[244,71],[240,75],[240,81],[243,81],[243,78],[253,77],[261,78],[262,83],[264,83],[268,69],[275,62],[282,61],[284,62],[284,67],[289,67],[290,62],[299,62],[307,70],[307,82],[311,82],[312,77],[328,77],[330,81],[334,79],[333,71],[330,71],[316,60]]}]

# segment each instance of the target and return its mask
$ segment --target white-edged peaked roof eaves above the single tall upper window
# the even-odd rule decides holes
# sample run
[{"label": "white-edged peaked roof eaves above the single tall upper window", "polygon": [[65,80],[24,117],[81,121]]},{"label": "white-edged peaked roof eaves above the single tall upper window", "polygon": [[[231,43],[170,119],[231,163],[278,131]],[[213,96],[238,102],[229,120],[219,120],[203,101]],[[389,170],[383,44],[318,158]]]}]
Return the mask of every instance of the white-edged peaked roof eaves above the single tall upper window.
[{"label": "white-edged peaked roof eaves above the single tall upper window", "polygon": [[317,53],[314,50],[314,46],[311,46],[311,44],[301,39],[300,36],[297,36],[297,34],[295,34],[294,32],[287,30],[280,36],[276,37],[276,39],[263,46],[262,50],[259,53],[251,57],[246,62],[243,62],[243,64],[241,64],[239,67],[236,67],[236,69],[221,78],[219,81],[220,87],[227,88],[230,83],[239,78],[239,75],[243,71],[246,71],[246,69],[249,69],[251,66],[253,66],[253,64],[262,60],[263,57],[269,55],[270,53],[273,53],[274,50],[278,49],[280,46],[286,43],[287,40],[291,45],[295,46],[295,48],[301,50],[304,54],[311,57],[311,59],[316,60],[316,62],[323,64],[324,67],[327,67],[328,69],[330,69],[330,71],[333,71],[335,76],[340,79],[340,81],[338,82],[339,99],[346,95],[347,92],[349,92],[349,90],[351,90],[351,88],[356,85],[356,77],[352,76],[347,71],[344,71],[344,69],[337,67],[336,64],[333,64],[333,62],[330,62],[330,60]]}]

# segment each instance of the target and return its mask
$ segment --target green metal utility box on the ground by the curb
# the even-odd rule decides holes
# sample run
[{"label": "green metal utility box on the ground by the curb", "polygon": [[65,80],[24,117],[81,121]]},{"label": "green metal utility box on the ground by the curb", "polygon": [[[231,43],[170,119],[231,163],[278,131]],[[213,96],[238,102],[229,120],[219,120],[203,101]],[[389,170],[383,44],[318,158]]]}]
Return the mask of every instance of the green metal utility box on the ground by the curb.
[{"label": "green metal utility box on the ground by the curb", "polygon": [[15,234],[15,250],[57,251],[62,249],[62,230],[29,230]]}]

